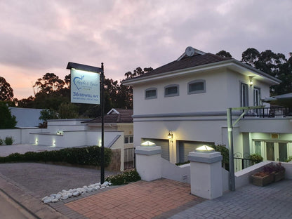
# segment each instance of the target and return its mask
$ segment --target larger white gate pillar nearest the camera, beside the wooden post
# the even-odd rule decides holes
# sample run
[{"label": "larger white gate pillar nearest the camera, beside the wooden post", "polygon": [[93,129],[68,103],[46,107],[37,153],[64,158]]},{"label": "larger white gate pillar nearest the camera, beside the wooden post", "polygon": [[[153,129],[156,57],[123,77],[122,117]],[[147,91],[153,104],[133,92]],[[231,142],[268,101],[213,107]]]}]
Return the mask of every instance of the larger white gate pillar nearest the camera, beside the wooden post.
[{"label": "larger white gate pillar nearest the camera, beside the wooden post", "polygon": [[191,193],[204,199],[215,199],[223,195],[222,155],[220,152],[190,152]]}]

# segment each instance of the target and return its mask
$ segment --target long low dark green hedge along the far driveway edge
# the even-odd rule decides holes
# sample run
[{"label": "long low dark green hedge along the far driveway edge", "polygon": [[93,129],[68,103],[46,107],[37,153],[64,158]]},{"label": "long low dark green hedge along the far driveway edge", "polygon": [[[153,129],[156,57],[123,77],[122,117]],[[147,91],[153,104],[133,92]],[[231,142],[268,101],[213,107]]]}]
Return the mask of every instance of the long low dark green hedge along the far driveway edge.
[{"label": "long low dark green hedge along the far driveway edge", "polygon": [[[68,147],[44,152],[14,153],[0,157],[0,163],[9,162],[62,162],[68,164],[100,166],[100,147]],[[105,166],[109,166],[112,150],[105,148]]]}]

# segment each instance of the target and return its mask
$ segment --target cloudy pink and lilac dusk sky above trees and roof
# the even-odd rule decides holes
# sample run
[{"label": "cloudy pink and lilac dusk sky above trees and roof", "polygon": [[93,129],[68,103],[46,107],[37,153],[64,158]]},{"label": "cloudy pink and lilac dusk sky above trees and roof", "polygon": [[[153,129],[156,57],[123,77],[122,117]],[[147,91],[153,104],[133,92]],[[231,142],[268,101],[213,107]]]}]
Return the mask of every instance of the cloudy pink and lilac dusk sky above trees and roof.
[{"label": "cloudy pink and lilac dusk sky above trees and roof", "polygon": [[121,81],[157,68],[187,46],[292,52],[291,0],[0,0],[0,77],[14,97],[34,95],[47,72],[64,79],[68,62],[100,67]]}]

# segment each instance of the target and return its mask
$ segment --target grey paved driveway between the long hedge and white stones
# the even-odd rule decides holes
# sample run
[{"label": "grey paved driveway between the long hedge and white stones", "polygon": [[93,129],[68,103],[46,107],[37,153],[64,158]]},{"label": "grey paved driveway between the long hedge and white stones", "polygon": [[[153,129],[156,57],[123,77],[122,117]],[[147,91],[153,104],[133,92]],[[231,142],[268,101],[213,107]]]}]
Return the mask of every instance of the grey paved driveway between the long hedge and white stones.
[{"label": "grey paved driveway between the long hedge and white stones", "polygon": [[[90,168],[38,163],[0,164],[0,174],[32,191],[34,197],[100,182],[100,171]],[[105,171],[105,175],[113,174]],[[13,183],[14,183],[13,182]]]}]

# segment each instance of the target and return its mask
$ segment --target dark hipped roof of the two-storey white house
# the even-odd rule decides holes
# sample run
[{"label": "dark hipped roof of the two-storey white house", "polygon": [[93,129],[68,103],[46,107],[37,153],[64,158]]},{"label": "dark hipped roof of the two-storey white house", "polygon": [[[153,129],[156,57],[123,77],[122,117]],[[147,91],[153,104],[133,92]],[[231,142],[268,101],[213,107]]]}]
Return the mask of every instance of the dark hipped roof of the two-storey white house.
[{"label": "dark hipped roof of the two-storey white house", "polygon": [[224,58],[219,55],[214,55],[212,53],[204,53],[197,49],[194,49],[194,55],[188,56],[186,53],[180,55],[178,60],[169,62],[166,65],[153,69],[151,72],[142,74],[138,77],[132,79],[126,79],[122,83],[125,85],[133,85],[145,81],[145,79],[157,78],[157,77],[171,77],[175,74],[181,74],[182,71],[191,72],[201,71],[201,69],[212,69],[216,67],[229,67],[241,74],[247,74],[249,77],[258,77],[270,84],[279,84],[281,81],[276,79],[270,74],[266,74],[258,69],[255,69],[249,65],[246,65],[234,58]]}]

